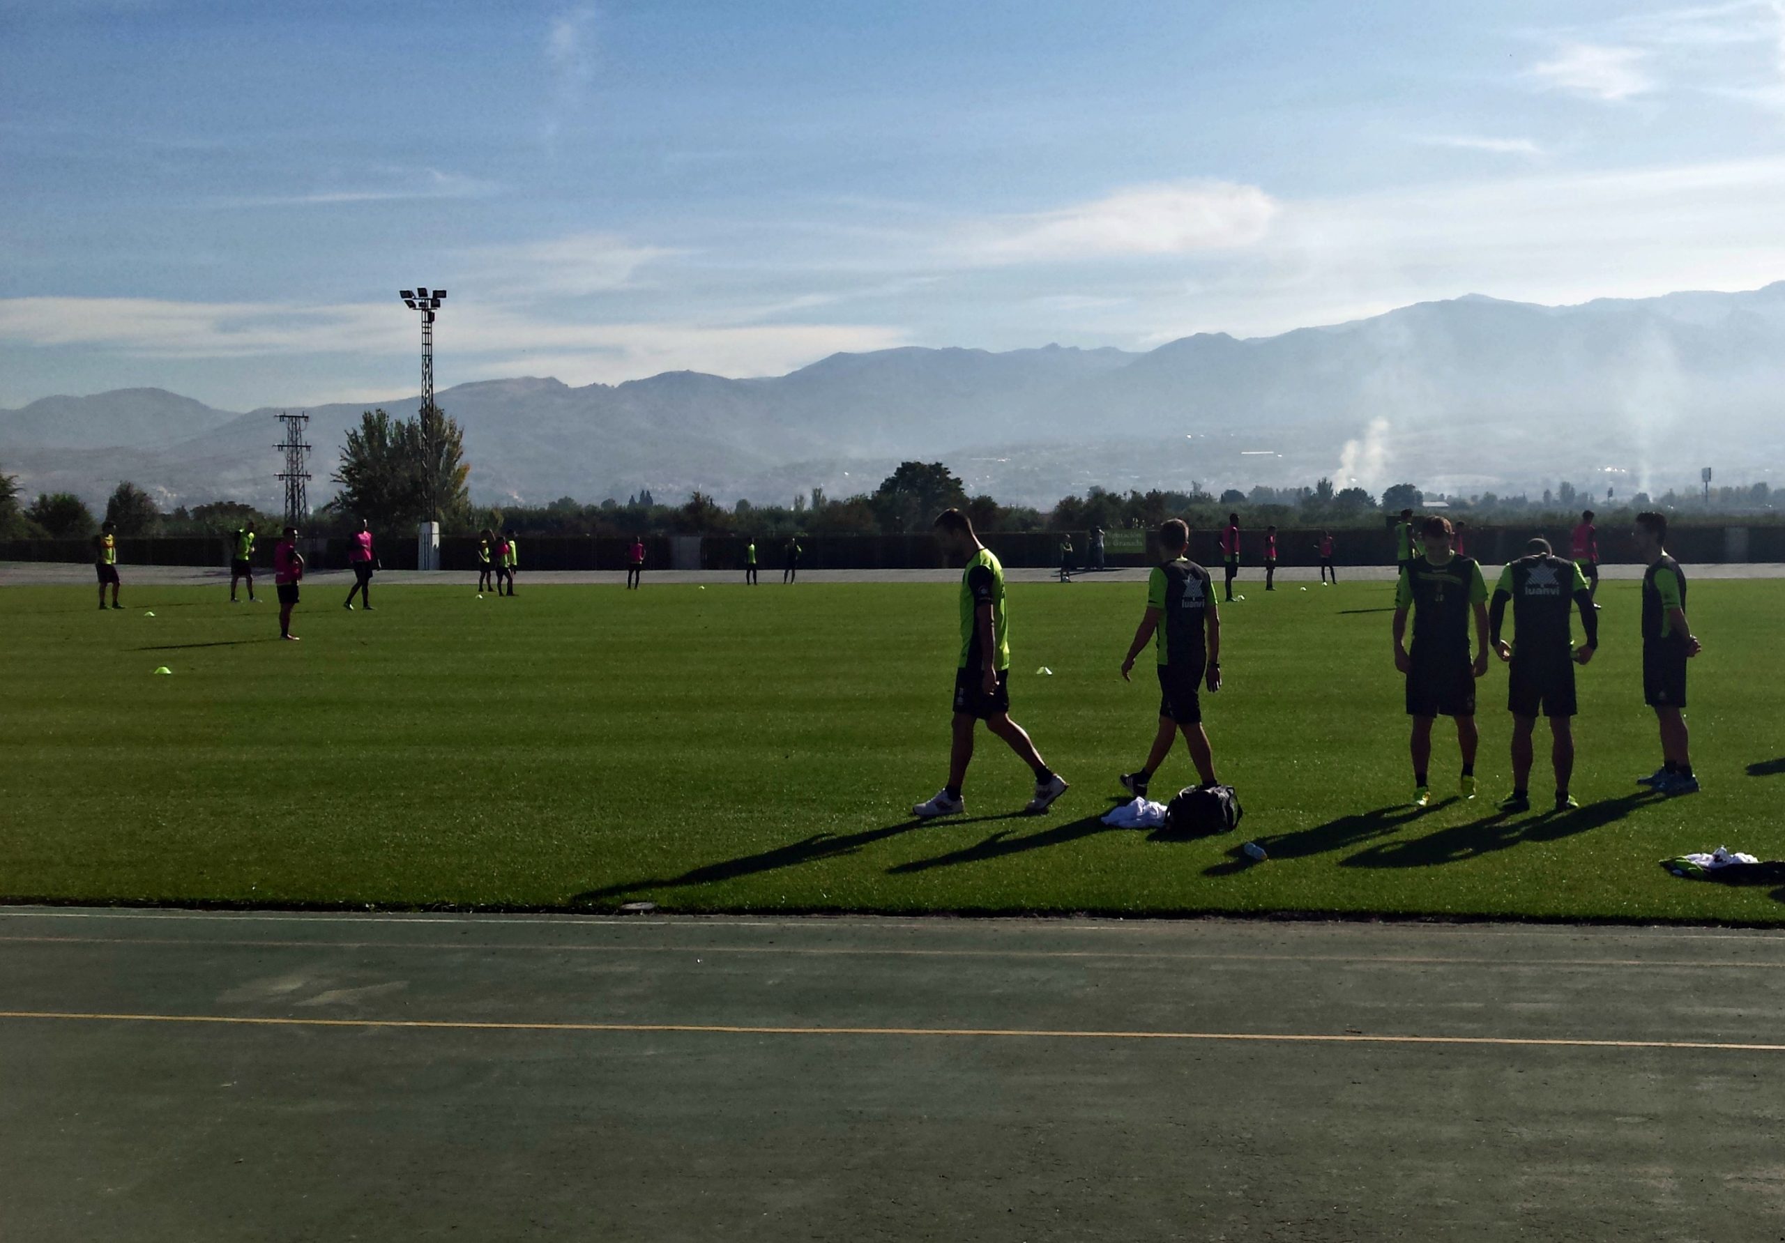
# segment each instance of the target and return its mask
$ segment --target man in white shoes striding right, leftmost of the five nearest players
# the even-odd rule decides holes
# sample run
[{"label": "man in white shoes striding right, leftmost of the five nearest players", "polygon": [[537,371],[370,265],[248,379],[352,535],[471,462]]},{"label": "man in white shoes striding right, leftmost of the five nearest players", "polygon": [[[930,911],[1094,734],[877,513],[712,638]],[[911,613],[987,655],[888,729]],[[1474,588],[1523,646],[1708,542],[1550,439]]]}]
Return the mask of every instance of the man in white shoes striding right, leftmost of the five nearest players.
[{"label": "man in white shoes striding right, leftmost of the five nearest players", "polygon": [[950,559],[966,561],[960,575],[960,664],[955,670],[955,741],[948,755],[948,784],[910,809],[919,820],[966,811],[960,786],[973,759],[978,722],[1005,739],[1035,772],[1035,797],[1026,811],[1039,814],[1066,793],[1066,782],[1048,764],[1023,727],[1010,720],[1010,632],[1005,620],[1003,566],[973,534],[973,521],[959,509],[935,520],[937,538]]}]

